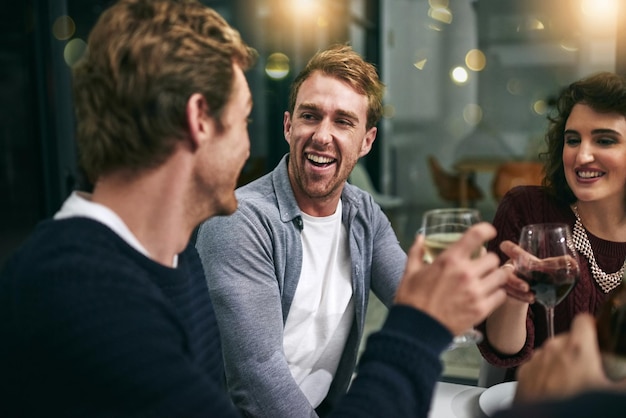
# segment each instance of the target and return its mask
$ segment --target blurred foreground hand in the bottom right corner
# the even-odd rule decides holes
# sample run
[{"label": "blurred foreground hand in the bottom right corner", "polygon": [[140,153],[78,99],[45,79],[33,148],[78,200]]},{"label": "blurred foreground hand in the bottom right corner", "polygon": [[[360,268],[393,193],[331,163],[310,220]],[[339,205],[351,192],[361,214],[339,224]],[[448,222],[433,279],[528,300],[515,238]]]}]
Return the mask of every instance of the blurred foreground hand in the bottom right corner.
[{"label": "blurred foreground hand in the bottom right corner", "polygon": [[613,384],[602,368],[595,319],[574,318],[570,332],[547,340],[517,372],[515,403],[558,399],[591,389],[625,388]]}]

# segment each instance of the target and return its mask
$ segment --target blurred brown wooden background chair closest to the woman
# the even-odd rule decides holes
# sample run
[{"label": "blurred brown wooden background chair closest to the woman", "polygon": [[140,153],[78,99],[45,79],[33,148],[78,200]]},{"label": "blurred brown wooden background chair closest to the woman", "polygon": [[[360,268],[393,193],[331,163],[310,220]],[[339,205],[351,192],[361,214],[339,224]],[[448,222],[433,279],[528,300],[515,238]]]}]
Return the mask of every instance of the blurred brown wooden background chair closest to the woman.
[{"label": "blurred brown wooden background chair closest to the woman", "polygon": [[491,192],[499,202],[515,186],[541,185],[543,164],[538,161],[510,161],[501,164],[493,176]]}]

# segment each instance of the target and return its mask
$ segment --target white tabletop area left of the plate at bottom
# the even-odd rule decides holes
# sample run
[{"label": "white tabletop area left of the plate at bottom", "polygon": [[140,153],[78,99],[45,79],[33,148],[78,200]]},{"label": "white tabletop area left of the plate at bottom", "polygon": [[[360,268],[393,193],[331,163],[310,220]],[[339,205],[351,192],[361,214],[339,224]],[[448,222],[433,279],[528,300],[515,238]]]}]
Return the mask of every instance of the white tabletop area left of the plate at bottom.
[{"label": "white tabletop area left of the plate at bottom", "polygon": [[486,388],[438,382],[430,405],[429,418],[486,418],[478,398]]}]

